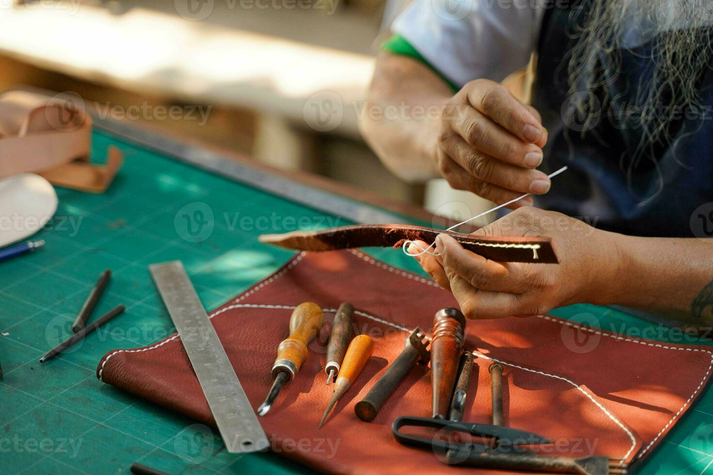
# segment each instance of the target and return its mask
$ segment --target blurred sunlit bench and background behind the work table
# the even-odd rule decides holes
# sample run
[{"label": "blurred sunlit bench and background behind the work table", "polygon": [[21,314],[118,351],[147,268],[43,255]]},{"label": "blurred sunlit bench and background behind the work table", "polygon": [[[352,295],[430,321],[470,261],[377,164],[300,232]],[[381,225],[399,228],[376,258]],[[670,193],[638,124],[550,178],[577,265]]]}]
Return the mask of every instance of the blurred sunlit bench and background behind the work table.
[{"label": "blurred sunlit bench and background behind the work table", "polygon": [[408,1],[0,0],[0,90],[71,92],[102,118],[443,215],[486,209],[443,180],[401,182],[359,137],[379,44]]}]

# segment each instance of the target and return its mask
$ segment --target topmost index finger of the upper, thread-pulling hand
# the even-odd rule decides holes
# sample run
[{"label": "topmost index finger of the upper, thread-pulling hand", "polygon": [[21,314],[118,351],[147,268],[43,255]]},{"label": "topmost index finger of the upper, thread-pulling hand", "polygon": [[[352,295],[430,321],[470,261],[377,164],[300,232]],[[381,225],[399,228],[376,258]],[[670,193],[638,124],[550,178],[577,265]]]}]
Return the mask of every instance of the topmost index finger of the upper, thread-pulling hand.
[{"label": "topmost index finger of the upper, thread-pulling hand", "polygon": [[525,142],[535,143],[542,137],[540,121],[501,84],[477,81],[468,90],[468,102]]}]

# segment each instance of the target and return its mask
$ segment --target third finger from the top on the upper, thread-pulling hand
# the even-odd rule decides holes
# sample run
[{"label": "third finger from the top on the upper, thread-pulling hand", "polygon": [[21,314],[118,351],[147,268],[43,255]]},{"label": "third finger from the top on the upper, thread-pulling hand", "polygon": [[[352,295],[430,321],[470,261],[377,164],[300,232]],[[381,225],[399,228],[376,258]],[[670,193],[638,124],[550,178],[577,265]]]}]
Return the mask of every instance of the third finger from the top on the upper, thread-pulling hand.
[{"label": "third finger from the top on the upper, thread-pulling hand", "polygon": [[550,190],[550,179],[543,172],[515,167],[480,153],[458,135],[444,140],[441,146],[448,157],[482,182],[518,193],[545,194]]}]

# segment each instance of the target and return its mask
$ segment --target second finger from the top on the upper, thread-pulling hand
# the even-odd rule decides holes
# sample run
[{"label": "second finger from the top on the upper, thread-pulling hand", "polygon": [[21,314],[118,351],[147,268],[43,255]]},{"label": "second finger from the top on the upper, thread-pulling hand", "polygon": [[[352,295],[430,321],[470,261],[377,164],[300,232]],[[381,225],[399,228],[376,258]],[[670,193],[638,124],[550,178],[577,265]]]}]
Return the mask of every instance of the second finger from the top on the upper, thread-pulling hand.
[{"label": "second finger from the top on the upper, thread-pulling hand", "polygon": [[450,122],[453,132],[477,150],[518,167],[536,168],[542,162],[542,149],[524,142],[473,108],[459,108]]}]

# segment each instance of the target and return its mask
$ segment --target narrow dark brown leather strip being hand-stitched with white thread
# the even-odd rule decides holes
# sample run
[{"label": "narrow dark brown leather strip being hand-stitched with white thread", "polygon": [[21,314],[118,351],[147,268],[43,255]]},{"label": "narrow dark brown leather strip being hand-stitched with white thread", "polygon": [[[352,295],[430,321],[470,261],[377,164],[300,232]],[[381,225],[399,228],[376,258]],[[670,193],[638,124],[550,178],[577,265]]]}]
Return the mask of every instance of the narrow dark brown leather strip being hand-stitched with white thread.
[{"label": "narrow dark brown leather strip being hand-stitched with white thread", "polygon": [[372,246],[401,247],[406,240],[431,244],[438,234],[453,236],[465,249],[493,261],[558,263],[550,238],[473,236],[409,224],[355,224],[319,231],[262,234],[259,239],[287,249],[334,251]]}]

